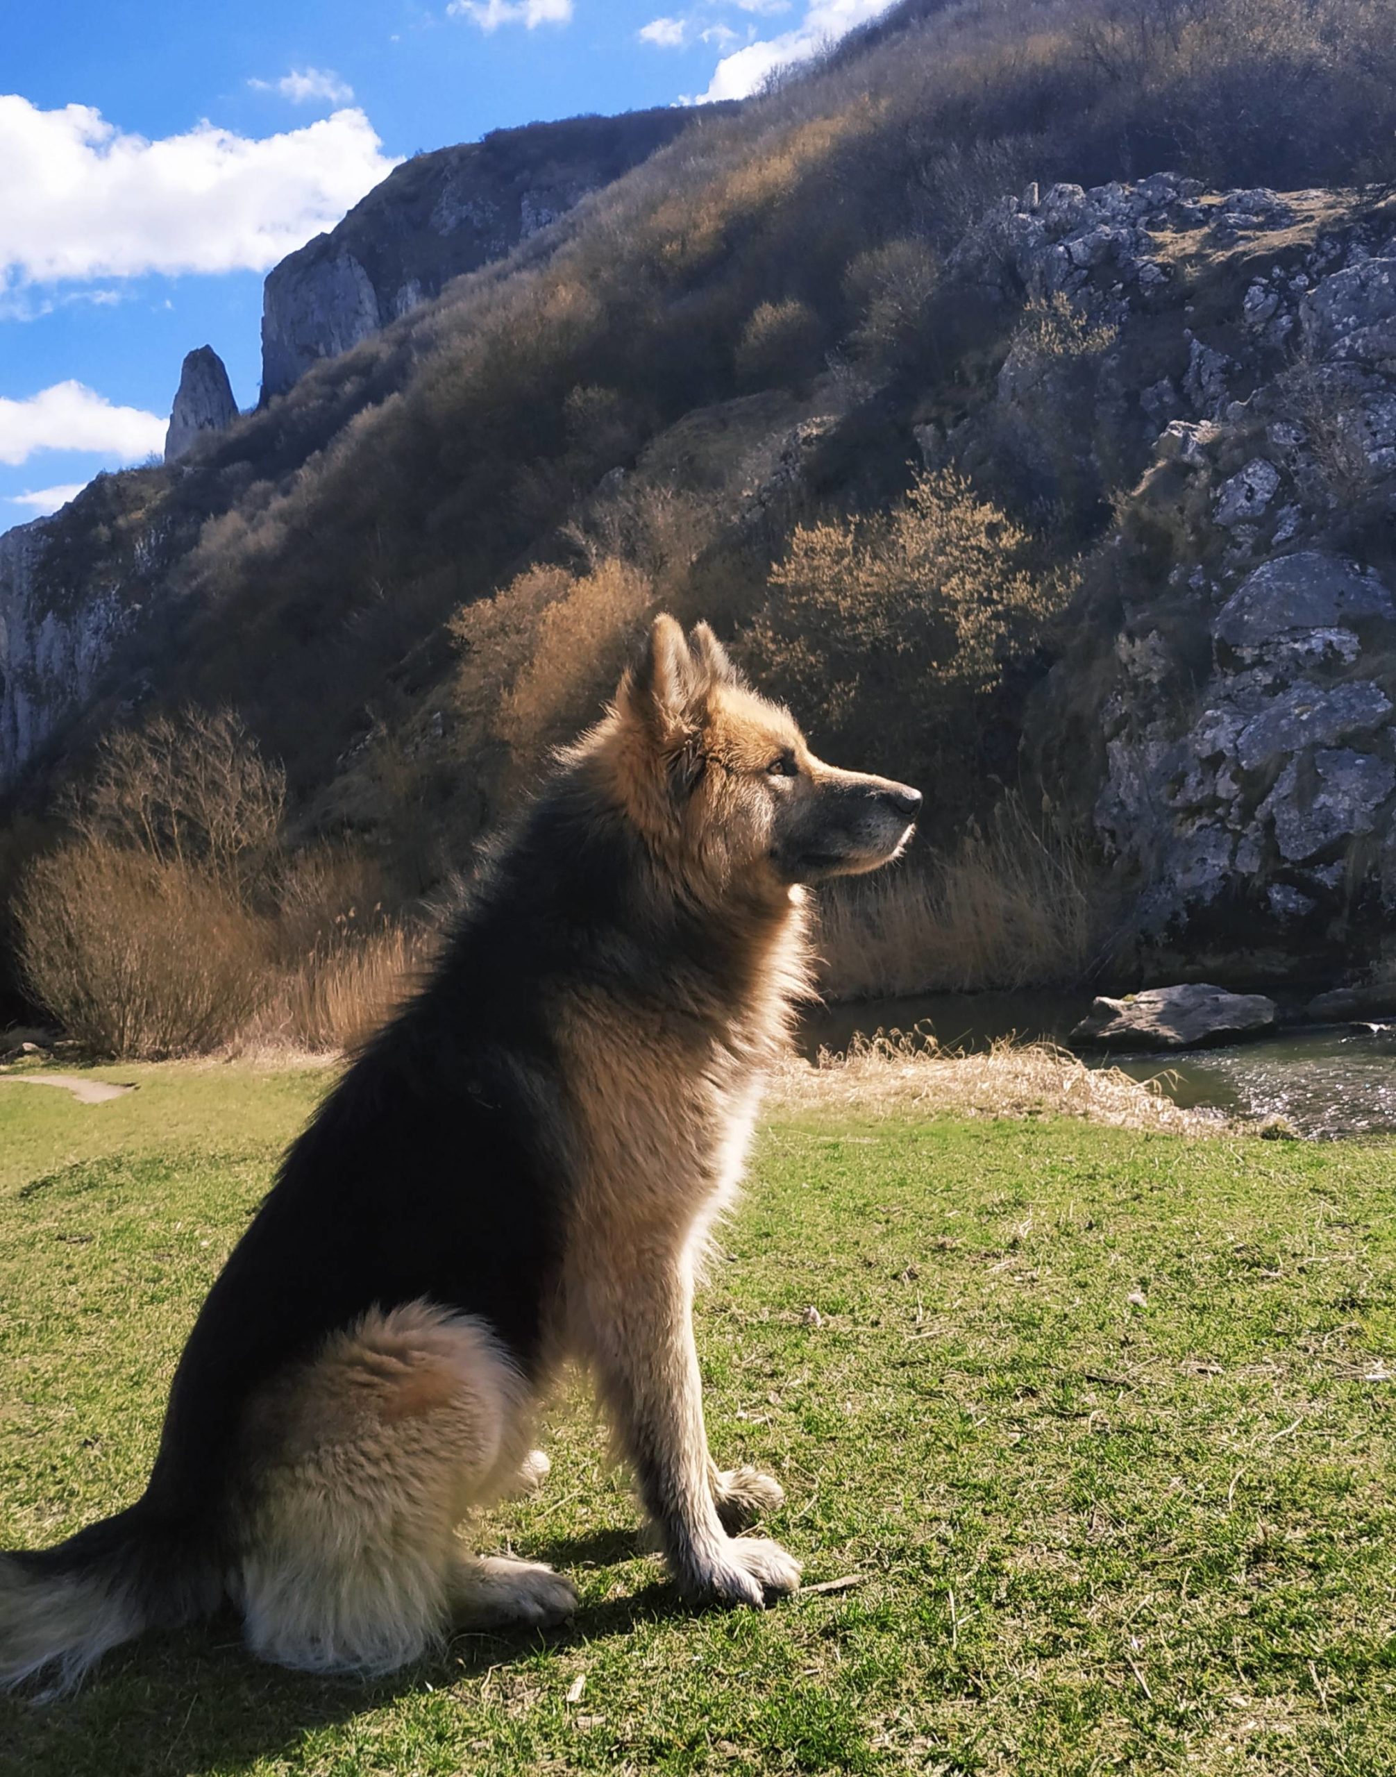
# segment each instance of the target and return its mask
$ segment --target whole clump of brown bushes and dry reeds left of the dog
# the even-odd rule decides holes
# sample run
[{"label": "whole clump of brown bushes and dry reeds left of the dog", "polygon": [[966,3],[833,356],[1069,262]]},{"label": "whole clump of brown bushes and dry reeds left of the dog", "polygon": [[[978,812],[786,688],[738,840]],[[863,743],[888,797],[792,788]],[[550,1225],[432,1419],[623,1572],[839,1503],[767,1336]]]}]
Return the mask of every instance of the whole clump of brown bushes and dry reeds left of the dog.
[{"label": "whole clump of brown bushes and dry reeds left of the dog", "polygon": [[424,954],[373,865],[282,841],[282,775],[229,713],[119,730],[14,903],[32,997],[99,1054],[343,1048]]}]

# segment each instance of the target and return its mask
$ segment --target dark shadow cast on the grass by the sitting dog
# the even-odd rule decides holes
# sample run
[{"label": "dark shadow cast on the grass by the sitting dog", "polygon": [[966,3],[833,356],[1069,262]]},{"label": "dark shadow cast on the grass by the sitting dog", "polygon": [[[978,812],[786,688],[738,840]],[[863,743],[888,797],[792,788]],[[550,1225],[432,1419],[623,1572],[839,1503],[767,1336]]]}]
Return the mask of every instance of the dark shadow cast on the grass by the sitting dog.
[{"label": "dark shadow cast on the grass by the sitting dog", "polygon": [[[563,1571],[627,1562],[643,1553],[636,1532],[599,1530],[529,1550]],[[110,1777],[202,1777],[258,1759],[290,1759],[307,1738],[391,1708],[428,1688],[446,1690],[508,1670],[540,1647],[567,1649],[625,1635],[639,1622],[680,1615],[678,1592],[657,1571],[622,1598],[583,1603],[563,1628],[455,1635],[433,1660],[387,1679],[286,1672],[254,1660],[231,1614],[171,1635],[149,1635],[108,1654],[73,1697],[0,1701],[0,1772],[91,1770]],[[469,1699],[462,1699],[469,1708]],[[12,1759],[12,1763],[9,1763]]]}]

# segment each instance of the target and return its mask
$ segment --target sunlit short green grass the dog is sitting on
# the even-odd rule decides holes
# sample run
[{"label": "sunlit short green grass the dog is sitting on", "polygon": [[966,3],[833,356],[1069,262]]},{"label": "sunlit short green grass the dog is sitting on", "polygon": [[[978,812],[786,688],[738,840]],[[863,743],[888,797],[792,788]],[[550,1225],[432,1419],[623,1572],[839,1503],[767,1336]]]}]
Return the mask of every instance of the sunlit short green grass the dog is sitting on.
[{"label": "sunlit short green grass the dog is sitting on", "polygon": [[[323,1073],[0,1084],[0,1542],[139,1491],[199,1295]],[[575,1624],[385,1685],[147,1638],[0,1704],[25,1777],[1396,1768],[1396,1148],[792,1118],[702,1299],[723,1462],[851,1590],[684,1612],[581,1393],[483,1528]],[[803,1311],[819,1308],[821,1326]],[[584,1688],[575,1701],[575,1681]]]}]

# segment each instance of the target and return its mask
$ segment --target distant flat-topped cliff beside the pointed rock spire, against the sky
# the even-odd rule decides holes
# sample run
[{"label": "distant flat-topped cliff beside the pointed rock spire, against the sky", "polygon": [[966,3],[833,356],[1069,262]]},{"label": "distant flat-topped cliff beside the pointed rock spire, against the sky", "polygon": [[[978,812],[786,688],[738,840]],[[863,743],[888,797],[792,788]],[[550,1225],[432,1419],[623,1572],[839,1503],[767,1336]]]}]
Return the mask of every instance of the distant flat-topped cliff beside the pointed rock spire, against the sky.
[{"label": "distant flat-topped cliff beside the pointed rock spire, against the sky", "polygon": [[570,117],[416,155],[337,227],[270,272],[263,400],[290,389],[316,361],[408,315],[453,277],[503,259],[691,121],[691,112],[675,107]]}]

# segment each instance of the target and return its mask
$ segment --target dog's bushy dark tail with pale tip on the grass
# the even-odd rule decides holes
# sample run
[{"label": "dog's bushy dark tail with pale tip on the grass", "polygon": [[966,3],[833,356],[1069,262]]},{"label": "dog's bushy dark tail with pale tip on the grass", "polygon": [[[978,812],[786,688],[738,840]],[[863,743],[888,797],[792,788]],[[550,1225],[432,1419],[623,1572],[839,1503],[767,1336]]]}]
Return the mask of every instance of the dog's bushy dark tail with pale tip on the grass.
[{"label": "dog's bushy dark tail with pale tip on the grass", "polygon": [[108,1647],[206,1615],[222,1594],[202,1528],[146,1500],[52,1550],[0,1553],[0,1688],[44,1676],[52,1695],[73,1690]]}]

